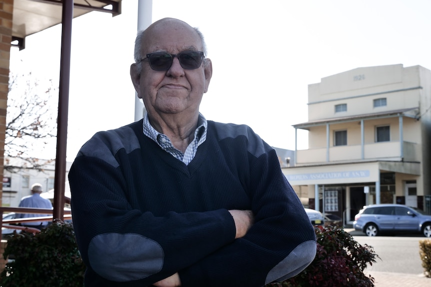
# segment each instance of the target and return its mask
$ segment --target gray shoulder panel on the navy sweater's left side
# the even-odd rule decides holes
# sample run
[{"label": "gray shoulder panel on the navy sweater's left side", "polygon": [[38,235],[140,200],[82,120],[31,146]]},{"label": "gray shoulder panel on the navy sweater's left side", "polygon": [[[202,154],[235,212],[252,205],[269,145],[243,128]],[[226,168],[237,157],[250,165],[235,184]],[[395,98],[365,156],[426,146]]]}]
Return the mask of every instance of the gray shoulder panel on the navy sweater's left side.
[{"label": "gray shoulder panel on the navy sweater's left side", "polygon": [[97,132],[81,147],[77,157],[94,157],[117,167],[118,162],[115,160],[115,154],[122,148],[126,153],[140,148],[139,141],[130,125]]}]

